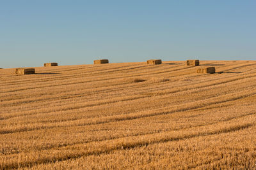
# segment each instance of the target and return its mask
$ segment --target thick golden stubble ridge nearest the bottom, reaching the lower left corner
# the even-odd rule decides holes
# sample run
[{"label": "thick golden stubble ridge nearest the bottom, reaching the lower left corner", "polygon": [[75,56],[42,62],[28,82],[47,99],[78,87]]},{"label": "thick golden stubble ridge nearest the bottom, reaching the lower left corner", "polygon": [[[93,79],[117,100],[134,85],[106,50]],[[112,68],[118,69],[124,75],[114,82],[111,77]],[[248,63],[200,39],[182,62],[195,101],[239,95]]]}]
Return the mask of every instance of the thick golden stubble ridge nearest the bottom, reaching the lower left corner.
[{"label": "thick golden stubble ridge nearest the bottom, reaching the lower left corner", "polygon": [[[254,117],[253,117],[254,116]],[[149,134],[145,136],[129,137],[122,139],[113,139],[111,141],[103,141],[97,143],[88,143],[86,145],[65,146],[63,148],[52,149],[42,152],[18,153],[7,155],[1,159],[2,169],[11,169],[18,167],[35,166],[36,164],[45,164],[48,162],[63,161],[68,159],[77,159],[82,156],[99,155],[109,153],[114,150],[124,150],[154,143],[166,143],[169,141],[184,140],[196,138],[199,136],[212,136],[228,132],[243,131],[248,127],[255,126],[255,115],[244,118],[243,122],[221,122],[216,125],[208,125],[205,127],[191,128],[188,131],[163,132],[159,134]],[[19,162],[17,160],[19,159]]]}]

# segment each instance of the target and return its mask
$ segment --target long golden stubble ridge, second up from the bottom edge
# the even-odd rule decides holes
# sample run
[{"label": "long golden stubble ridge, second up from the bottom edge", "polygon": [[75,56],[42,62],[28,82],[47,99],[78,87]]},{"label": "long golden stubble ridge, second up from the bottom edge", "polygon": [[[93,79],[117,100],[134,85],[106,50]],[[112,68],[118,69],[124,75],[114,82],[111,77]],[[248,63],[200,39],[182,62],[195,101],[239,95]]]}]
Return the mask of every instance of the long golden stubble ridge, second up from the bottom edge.
[{"label": "long golden stubble ridge, second up from the bottom edge", "polygon": [[204,106],[209,106],[211,104],[218,104],[218,103],[226,103],[228,101],[236,101],[238,99],[242,99],[244,97],[250,97],[256,94],[256,90],[252,90],[252,92],[248,92],[248,90],[244,89],[240,92],[234,92],[231,94],[225,94],[218,97],[210,97],[207,99],[202,99],[195,102],[190,102],[186,104],[178,104],[176,106],[166,106],[157,108],[150,111],[139,111],[138,113],[128,113],[122,115],[113,115],[107,117],[99,117],[99,118],[85,118],[80,120],[72,120],[68,122],[60,122],[55,124],[44,124],[44,123],[37,123],[37,124],[26,124],[26,125],[19,125],[12,127],[2,127],[0,130],[0,134],[12,133],[12,132],[22,132],[22,131],[33,131],[36,129],[42,128],[52,128],[52,127],[69,127],[69,126],[83,126],[83,125],[92,125],[92,124],[106,124],[109,122],[119,122],[124,120],[135,120],[138,118],[147,118],[153,117],[156,115],[167,115],[175,112],[180,111],[188,111],[194,110],[198,108],[202,108]]}]

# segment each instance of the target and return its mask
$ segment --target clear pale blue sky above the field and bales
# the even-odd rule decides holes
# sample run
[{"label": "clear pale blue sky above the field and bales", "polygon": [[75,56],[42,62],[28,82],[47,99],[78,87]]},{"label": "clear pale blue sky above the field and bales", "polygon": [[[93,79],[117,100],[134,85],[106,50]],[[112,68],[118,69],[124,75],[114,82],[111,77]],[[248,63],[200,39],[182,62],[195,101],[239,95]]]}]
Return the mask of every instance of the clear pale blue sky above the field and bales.
[{"label": "clear pale blue sky above the field and bales", "polygon": [[0,67],[255,60],[256,1],[0,1]]}]

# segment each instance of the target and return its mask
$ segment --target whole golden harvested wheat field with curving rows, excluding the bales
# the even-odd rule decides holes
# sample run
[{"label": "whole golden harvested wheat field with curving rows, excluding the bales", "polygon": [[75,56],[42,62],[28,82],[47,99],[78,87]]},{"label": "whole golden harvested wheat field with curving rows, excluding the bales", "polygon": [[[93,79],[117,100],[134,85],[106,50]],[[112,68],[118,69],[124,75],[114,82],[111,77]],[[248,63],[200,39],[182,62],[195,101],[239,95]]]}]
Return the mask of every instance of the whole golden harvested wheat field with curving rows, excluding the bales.
[{"label": "whole golden harvested wheat field with curving rows, excluding the bales", "polygon": [[0,169],[256,168],[256,61],[0,71]]}]

